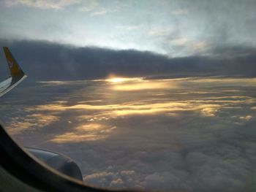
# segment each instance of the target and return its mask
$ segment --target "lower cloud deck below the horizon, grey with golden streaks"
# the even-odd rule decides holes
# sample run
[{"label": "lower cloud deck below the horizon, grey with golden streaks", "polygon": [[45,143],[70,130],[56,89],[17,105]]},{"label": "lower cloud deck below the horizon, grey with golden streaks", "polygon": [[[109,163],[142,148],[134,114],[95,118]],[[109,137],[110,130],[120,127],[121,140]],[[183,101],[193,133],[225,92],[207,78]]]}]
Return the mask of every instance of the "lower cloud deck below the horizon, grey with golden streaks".
[{"label": "lower cloud deck below the horizon, grey with golden streaks", "polygon": [[[176,86],[113,90],[136,80]],[[86,184],[254,191],[255,95],[255,78],[24,81],[1,98],[0,112],[10,131],[34,123],[15,138],[73,158]]]}]

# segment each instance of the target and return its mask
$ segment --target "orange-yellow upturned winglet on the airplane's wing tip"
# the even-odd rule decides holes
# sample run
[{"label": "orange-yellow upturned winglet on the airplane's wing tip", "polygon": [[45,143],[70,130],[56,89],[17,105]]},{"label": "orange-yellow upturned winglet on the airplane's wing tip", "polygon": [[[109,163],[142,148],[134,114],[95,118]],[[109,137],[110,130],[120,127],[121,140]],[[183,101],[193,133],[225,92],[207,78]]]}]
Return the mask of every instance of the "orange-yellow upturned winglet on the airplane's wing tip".
[{"label": "orange-yellow upturned winglet on the airplane's wing tip", "polygon": [[10,69],[10,74],[12,76],[12,79],[19,80],[25,74],[22,71],[22,69],[20,68],[20,66],[18,66],[17,61],[15,61],[15,58],[12,56],[12,53],[10,52],[8,47],[3,47],[3,48],[4,48],[5,57],[7,58],[7,63],[8,63],[9,69]]}]

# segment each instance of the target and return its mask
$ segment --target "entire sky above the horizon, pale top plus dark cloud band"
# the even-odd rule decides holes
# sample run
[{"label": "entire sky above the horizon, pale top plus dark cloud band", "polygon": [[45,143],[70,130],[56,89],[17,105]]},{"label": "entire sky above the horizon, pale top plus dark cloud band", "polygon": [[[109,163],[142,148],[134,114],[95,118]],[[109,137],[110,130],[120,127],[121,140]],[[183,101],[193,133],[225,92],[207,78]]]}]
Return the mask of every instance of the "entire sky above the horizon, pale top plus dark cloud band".
[{"label": "entire sky above the horizon, pale top plus dark cloud band", "polygon": [[0,1],[0,46],[38,80],[255,77],[255,7],[249,0]]}]

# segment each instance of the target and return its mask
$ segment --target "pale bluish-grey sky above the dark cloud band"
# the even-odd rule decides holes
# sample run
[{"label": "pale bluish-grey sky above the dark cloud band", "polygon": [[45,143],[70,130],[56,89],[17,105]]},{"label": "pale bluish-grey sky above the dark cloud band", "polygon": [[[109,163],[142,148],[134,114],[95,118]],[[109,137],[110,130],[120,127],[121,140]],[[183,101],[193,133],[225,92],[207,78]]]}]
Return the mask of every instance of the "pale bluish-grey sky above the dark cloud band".
[{"label": "pale bluish-grey sky above the dark cloud band", "polygon": [[34,39],[171,57],[256,46],[255,1],[2,0],[0,38]]}]

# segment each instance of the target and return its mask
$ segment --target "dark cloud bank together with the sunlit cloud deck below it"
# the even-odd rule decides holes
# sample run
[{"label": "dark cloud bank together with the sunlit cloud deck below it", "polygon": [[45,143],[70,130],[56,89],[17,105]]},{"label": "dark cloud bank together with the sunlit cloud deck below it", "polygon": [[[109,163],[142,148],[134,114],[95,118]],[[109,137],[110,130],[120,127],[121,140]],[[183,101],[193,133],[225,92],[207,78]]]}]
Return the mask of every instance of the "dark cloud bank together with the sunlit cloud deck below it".
[{"label": "dark cloud bank together with the sunlit cloud deck below it", "polygon": [[85,183],[255,190],[252,47],[170,58],[52,42],[3,44],[29,75],[1,97],[7,130],[23,145],[74,158]]}]

